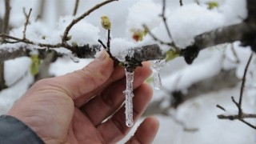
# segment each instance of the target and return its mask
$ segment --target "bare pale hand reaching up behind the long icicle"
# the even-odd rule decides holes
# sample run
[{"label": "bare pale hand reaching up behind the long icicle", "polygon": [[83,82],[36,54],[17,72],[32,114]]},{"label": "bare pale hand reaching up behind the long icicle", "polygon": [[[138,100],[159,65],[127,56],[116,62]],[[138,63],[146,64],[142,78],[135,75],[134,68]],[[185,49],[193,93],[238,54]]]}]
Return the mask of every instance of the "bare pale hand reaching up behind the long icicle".
[{"label": "bare pale hand reaching up behind the long icicle", "polygon": [[[152,98],[150,86],[143,83],[151,74],[149,67],[143,63],[135,70],[135,122]],[[116,143],[130,131],[122,106],[125,87],[124,70],[102,52],[82,70],[36,82],[7,114],[46,143]],[[146,118],[127,143],[153,142],[158,126],[156,118]]]}]

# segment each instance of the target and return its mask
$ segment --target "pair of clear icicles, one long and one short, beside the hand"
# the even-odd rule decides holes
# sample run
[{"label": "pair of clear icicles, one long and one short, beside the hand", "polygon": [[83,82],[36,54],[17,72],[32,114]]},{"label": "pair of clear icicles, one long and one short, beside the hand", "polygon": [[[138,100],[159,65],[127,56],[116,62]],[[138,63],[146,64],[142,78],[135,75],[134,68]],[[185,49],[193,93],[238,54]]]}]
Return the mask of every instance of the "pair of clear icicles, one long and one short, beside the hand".
[{"label": "pair of clear icicles, one long and one short, beside the hand", "polygon": [[[156,90],[160,90],[162,87],[162,82],[160,78],[159,71],[165,66],[166,60],[156,60],[154,64],[151,66],[151,70],[154,74],[154,88]],[[134,71],[129,72],[126,70],[126,90],[124,90],[124,94],[126,95],[126,126],[131,127],[134,125],[134,118],[133,118],[133,82],[134,82]]]}]

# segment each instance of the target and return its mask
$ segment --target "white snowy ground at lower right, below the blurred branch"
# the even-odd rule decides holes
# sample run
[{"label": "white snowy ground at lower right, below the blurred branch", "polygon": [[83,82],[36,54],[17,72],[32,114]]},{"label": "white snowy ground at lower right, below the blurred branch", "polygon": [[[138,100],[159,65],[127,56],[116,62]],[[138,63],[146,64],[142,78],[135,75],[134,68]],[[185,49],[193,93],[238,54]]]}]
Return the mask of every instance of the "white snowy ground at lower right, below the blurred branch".
[{"label": "white snowy ground at lower right, below the blurred branch", "polygon": [[[238,88],[238,87],[237,87]],[[244,126],[242,122],[219,120],[218,114],[222,114],[222,110],[216,107],[216,104],[224,104],[227,109],[237,110],[234,103],[231,102],[231,95],[238,98],[239,90],[226,89],[210,94],[203,94],[198,98],[194,98],[185,102],[176,110],[176,119],[184,122],[187,128],[197,128],[198,131],[188,132],[183,130],[183,126],[174,120],[174,116],[155,115],[160,122],[159,132],[154,139],[154,144],[158,143],[181,143],[181,144],[201,144],[201,143],[254,143],[255,130],[248,126]],[[244,103],[244,108],[254,109],[255,105],[248,106],[248,101]],[[223,106],[223,105],[222,105]],[[142,122],[140,120],[138,123]],[[130,134],[122,141],[124,143],[134,134],[138,123],[135,124]],[[254,121],[254,124],[256,122]]]}]

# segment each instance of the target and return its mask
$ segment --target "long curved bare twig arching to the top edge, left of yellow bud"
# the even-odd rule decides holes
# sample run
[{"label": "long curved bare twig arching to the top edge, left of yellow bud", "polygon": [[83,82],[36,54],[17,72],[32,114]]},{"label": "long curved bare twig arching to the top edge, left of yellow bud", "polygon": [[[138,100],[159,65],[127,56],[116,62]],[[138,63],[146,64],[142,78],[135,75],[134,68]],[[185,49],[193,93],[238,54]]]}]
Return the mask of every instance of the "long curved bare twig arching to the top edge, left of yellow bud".
[{"label": "long curved bare twig arching to the top edge, left of yellow bud", "polygon": [[104,2],[101,2],[97,5],[95,5],[93,8],[91,8],[90,10],[86,11],[84,14],[82,14],[81,16],[79,16],[78,18],[75,18],[72,22],[70,22],[69,26],[66,26],[66,30],[64,31],[63,37],[62,37],[62,43],[66,44],[67,41],[67,35],[70,32],[70,29],[74,26],[74,24],[78,23],[79,21],[82,20],[82,18],[85,18],[87,15],[89,15],[90,13],[92,13],[94,10],[97,10],[98,8],[100,8],[101,6],[104,6],[110,2],[114,2],[114,1],[118,1],[118,0],[106,0]]}]

